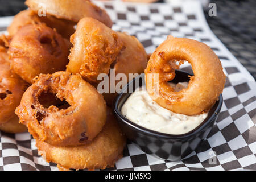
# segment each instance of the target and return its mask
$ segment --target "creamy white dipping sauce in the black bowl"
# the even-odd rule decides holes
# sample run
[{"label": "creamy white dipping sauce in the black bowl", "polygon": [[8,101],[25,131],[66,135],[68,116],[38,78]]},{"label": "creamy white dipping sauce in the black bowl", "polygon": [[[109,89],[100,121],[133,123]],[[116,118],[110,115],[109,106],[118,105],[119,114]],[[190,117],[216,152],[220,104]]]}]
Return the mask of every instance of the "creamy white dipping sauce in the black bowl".
[{"label": "creamy white dipping sauce in the black bowl", "polygon": [[[178,92],[187,88],[188,83],[170,83]],[[127,119],[147,129],[167,134],[184,134],[195,129],[207,117],[207,113],[200,115],[176,114],[164,109],[151,99],[146,87],[137,88],[123,104],[121,112]]]}]

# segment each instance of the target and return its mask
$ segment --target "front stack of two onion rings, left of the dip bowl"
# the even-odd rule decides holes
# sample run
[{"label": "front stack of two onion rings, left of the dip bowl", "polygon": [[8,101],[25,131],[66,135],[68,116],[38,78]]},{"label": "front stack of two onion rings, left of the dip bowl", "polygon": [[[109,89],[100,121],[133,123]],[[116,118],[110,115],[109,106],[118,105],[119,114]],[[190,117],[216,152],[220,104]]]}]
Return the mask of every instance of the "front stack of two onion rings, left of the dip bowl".
[{"label": "front stack of two onion rings, left of the dip bowl", "polygon": [[15,113],[39,154],[60,169],[105,169],[122,156],[125,136],[103,96],[80,75],[40,74]]}]

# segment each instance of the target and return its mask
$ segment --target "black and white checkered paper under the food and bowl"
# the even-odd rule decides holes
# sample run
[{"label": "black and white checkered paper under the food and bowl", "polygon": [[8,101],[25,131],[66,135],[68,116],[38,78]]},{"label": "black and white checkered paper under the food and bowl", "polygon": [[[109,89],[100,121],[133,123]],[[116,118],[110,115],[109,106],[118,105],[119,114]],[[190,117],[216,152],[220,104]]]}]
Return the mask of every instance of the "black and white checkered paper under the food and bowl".
[{"label": "black and white checkered paper under the food and bowl", "polygon": [[[182,2],[182,3],[181,3]],[[114,170],[256,170],[256,84],[254,78],[209,29],[200,2],[171,1],[151,5],[122,2],[96,2],[111,16],[115,31],[136,36],[147,53],[167,35],[199,40],[218,55],[226,74],[224,103],[212,131],[187,158],[170,162],[139,150],[128,142],[123,158]],[[6,30],[12,17],[0,18]],[[187,65],[185,65],[187,68]],[[214,152],[213,152],[214,151]],[[209,159],[216,156],[216,163]],[[57,170],[45,162],[29,133],[0,135],[1,170]]]}]

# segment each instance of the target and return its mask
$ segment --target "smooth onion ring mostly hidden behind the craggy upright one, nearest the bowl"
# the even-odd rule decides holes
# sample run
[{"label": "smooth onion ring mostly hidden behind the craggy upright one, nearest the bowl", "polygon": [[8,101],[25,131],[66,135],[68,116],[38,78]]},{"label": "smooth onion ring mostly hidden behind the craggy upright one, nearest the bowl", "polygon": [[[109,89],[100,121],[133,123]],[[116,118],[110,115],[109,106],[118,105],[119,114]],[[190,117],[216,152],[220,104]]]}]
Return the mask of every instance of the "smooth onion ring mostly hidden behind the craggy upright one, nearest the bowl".
[{"label": "smooth onion ring mostly hidden behind the craggy upright one, nearest the bowl", "polygon": [[[118,37],[122,40],[123,50],[119,53],[117,61],[113,64],[113,69],[115,71],[115,76],[118,73],[124,73],[127,77],[127,81],[129,82],[133,80],[135,76],[144,72],[144,69],[147,67],[147,53],[142,46],[142,44],[138,41],[137,38],[134,36],[127,35],[126,33],[117,32]],[[129,73],[138,73],[138,75],[129,76]],[[112,78],[109,75],[109,84]],[[114,80],[114,79],[112,79]],[[115,80],[115,85],[119,80]],[[109,92],[103,93],[106,103],[108,105],[112,105],[114,98],[117,96],[117,93],[110,92],[110,85],[109,85]]]}]

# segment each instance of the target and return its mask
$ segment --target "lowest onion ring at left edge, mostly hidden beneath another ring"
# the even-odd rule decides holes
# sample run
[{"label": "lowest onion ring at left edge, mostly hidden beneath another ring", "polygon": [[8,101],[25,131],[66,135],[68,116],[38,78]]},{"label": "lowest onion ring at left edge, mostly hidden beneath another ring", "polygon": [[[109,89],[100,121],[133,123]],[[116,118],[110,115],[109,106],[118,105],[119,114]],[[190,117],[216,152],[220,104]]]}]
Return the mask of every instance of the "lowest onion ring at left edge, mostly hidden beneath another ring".
[{"label": "lowest onion ring at left edge, mostly hidden beneath another ring", "polygon": [[22,133],[27,131],[27,127],[19,123],[19,118],[15,114],[8,122],[0,124],[0,130],[6,133]]}]

